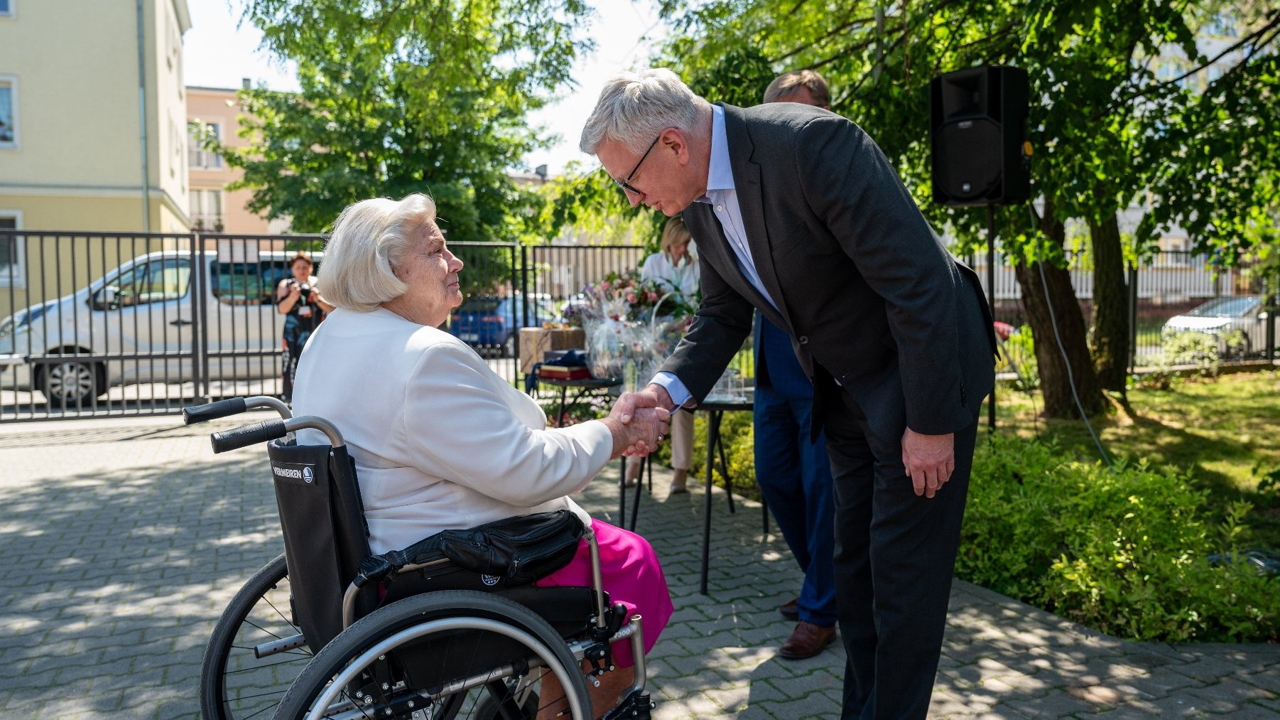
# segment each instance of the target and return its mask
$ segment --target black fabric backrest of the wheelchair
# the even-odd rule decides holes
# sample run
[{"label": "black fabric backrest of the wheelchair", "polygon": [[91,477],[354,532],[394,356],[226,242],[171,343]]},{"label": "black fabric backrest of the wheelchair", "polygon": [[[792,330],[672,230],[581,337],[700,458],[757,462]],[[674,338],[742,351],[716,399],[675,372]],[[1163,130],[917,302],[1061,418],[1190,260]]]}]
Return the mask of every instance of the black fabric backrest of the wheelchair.
[{"label": "black fabric backrest of the wheelchair", "polygon": [[370,555],[356,465],[344,446],[268,445],[293,610],[312,652],[342,632],[342,597]]}]

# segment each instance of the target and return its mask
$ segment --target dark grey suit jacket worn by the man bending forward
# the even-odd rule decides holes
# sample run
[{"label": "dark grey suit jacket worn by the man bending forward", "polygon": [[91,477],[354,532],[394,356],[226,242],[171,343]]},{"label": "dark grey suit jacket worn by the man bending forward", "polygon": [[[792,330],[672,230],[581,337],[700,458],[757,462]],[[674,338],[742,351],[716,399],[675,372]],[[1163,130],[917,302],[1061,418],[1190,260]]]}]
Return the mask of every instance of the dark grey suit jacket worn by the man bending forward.
[{"label": "dark grey suit jacket worn by the man bending forward", "polygon": [[886,437],[972,424],[995,383],[989,311],[879,147],[795,102],[724,105],[724,131],[751,258],[778,307],[742,275],[712,208],[694,202],[684,217],[703,302],[662,369],[700,401],[751,332],[754,306],[791,334],[814,382],[814,433],[837,383]]}]

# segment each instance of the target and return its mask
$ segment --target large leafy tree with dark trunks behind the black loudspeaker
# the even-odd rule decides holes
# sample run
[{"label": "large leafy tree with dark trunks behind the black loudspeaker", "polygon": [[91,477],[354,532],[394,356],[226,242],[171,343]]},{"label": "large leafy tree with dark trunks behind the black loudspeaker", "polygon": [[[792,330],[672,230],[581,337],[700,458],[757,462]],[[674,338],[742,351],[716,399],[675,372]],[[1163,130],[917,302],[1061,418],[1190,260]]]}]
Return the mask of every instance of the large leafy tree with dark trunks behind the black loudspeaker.
[{"label": "large leafy tree with dark trunks behind the black loudspeaker", "polygon": [[[1149,247],[1158,227],[1174,220],[1183,222],[1199,246],[1235,249],[1248,242],[1221,228],[1247,224],[1258,237],[1274,227],[1266,219],[1275,215],[1274,188],[1280,186],[1280,152],[1272,151],[1280,133],[1257,133],[1280,118],[1275,54],[1267,50],[1275,40],[1271,3],[1238,9],[1217,0],[863,1],[831,12],[805,0],[721,0],[695,9],[668,3],[664,13],[676,28],[666,58],[691,85],[724,76],[721,58],[733,53],[754,53],[776,72],[823,72],[835,88],[832,109],[876,137],[925,214],[961,240],[961,252],[980,245],[983,218],[924,201],[925,87],[941,72],[978,64],[1028,70],[1034,99],[1028,122],[1036,145],[1033,196],[1039,202],[1000,209],[997,218],[1004,254],[1015,261],[1028,320],[1039,341],[1051,416],[1075,414],[1075,397],[1085,413],[1100,411],[1106,406],[1101,383],[1124,387],[1126,251],[1117,213],[1135,197],[1149,196],[1155,208],[1139,227],[1137,250]],[[1199,51],[1197,31],[1224,17],[1238,17],[1251,28],[1239,72],[1228,72],[1204,92],[1156,77],[1157,61],[1171,53],[1185,56],[1188,77],[1215,60]],[[1233,102],[1221,100],[1224,82],[1238,83]],[[1203,143],[1203,137],[1215,140]],[[1222,147],[1231,141],[1240,143],[1238,150]],[[1248,174],[1226,177],[1242,169]],[[1197,186],[1203,178],[1221,181],[1224,190],[1206,192]],[[1073,219],[1091,228],[1097,293],[1093,357],[1101,380],[1070,278],[1061,269],[1064,227]]]}]

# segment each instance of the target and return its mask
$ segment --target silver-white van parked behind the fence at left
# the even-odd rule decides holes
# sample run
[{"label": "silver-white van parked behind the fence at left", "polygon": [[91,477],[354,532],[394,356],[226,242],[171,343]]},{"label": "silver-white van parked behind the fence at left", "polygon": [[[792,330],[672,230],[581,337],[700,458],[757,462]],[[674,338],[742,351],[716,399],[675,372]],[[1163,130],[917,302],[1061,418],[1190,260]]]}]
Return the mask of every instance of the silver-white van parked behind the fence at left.
[{"label": "silver-white van parked behind the fence at left", "polygon": [[[79,291],[0,322],[0,389],[38,389],[51,405],[87,406],[127,383],[280,375],[284,318],[275,287],[294,251],[251,261],[191,251],[140,255]],[[197,255],[198,256],[198,255]],[[314,254],[319,269],[321,252]],[[206,351],[207,348],[207,351]]]}]

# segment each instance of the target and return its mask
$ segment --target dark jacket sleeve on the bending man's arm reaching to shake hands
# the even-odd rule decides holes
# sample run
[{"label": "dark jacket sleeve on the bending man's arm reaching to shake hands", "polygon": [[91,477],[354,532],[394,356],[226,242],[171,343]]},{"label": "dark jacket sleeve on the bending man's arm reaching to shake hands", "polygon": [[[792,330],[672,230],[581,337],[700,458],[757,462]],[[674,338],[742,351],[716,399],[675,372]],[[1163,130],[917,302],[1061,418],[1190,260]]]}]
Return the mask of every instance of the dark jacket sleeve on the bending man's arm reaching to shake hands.
[{"label": "dark jacket sleeve on the bending man's arm reaching to shake hands", "polygon": [[[704,242],[704,238],[696,234],[694,240]],[[710,242],[710,238],[705,242]],[[660,370],[680,378],[694,398],[701,402],[724,368],[742,348],[742,341],[751,332],[754,309],[724,282],[710,263],[700,261],[698,272],[701,278],[703,302],[694,314],[689,332]]]}]

